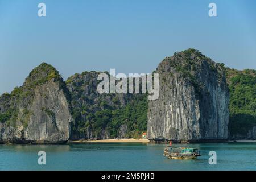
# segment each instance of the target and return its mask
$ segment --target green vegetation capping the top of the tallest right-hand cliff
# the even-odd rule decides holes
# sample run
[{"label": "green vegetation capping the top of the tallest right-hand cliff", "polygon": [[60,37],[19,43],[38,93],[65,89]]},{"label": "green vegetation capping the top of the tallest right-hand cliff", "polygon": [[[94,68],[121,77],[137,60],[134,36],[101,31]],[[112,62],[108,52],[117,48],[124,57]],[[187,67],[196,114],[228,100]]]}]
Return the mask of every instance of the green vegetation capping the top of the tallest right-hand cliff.
[{"label": "green vegetation capping the top of the tallest right-hand cliff", "polygon": [[170,76],[174,76],[174,73],[180,73],[183,78],[193,85],[198,96],[204,94],[201,93],[203,90],[203,83],[199,82],[197,79],[198,77],[204,76],[199,76],[202,69],[200,64],[204,64],[203,68],[205,76],[209,73],[211,74],[211,77],[217,77],[216,81],[220,81],[223,77],[222,72],[225,69],[224,64],[214,63],[212,59],[193,48],[175,52],[174,56],[166,57],[166,59],[163,60],[162,65],[166,65],[166,63],[168,63],[167,68],[170,68],[170,70],[164,70],[166,68],[160,66],[160,69],[158,68],[157,72],[162,74],[168,73]]}]

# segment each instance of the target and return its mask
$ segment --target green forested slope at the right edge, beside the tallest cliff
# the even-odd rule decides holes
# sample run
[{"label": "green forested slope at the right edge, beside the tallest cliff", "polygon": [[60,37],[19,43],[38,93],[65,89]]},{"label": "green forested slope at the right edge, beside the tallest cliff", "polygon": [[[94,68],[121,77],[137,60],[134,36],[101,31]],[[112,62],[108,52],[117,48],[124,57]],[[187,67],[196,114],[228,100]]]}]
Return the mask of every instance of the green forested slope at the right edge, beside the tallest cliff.
[{"label": "green forested slope at the right edge, beside the tallest cliff", "polygon": [[256,126],[255,70],[226,69],[229,83],[230,134],[246,134]]}]

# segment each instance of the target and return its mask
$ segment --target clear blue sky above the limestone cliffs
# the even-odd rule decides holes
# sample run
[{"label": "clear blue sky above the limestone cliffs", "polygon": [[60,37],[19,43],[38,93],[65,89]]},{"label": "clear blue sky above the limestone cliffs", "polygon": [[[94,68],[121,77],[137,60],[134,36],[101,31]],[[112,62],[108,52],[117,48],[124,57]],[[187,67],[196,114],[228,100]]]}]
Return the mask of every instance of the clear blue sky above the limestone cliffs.
[{"label": "clear blue sky above the limestone cliffs", "polygon": [[[38,3],[46,3],[46,17]],[[217,17],[208,15],[209,3]],[[64,79],[83,71],[150,73],[199,49],[230,68],[256,69],[255,0],[0,0],[0,94],[43,61]]]}]

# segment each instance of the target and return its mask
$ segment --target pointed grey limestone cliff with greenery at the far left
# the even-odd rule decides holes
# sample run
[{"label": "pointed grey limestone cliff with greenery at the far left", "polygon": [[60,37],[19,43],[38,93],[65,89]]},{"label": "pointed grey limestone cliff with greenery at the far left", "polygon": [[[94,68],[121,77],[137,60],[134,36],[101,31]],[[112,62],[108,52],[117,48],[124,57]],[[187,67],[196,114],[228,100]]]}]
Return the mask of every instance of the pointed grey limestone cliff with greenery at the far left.
[{"label": "pointed grey limestone cliff with greenery at the far left", "polygon": [[65,82],[42,63],[11,94],[0,97],[0,142],[65,142],[71,137],[72,115]]}]

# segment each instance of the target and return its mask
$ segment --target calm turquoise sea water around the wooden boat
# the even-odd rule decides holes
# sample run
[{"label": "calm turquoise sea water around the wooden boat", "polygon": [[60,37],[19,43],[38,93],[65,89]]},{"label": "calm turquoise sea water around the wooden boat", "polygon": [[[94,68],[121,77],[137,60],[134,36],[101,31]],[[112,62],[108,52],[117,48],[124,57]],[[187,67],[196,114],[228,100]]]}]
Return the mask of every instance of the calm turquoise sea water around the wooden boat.
[{"label": "calm turquoise sea water around the wooden boat", "polygon": [[[202,156],[195,160],[166,159],[163,144],[0,144],[0,170],[256,170],[256,144],[187,146],[199,148]],[[216,165],[208,163],[212,150],[217,152]],[[46,165],[38,164],[38,151],[46,152]]]}]

